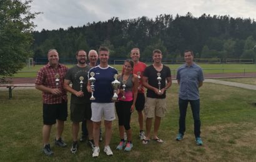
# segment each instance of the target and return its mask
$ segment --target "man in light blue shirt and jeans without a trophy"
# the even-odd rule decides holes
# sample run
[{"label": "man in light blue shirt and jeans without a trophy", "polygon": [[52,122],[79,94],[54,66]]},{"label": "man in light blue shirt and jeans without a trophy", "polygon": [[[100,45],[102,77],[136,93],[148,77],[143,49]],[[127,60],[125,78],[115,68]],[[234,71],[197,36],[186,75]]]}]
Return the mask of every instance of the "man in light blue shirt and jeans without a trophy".
[{"label": "man in light blue shirt and jeans without a trophy", "polygon": [[187,105],[190,107],[194,118],[194,134],[195,143],[202,145],[200,138],[200,99],[199,87],[203,85],[204,75],[201,67],[193,62],[194,54],[192,50],[185,50],[185,64],[177,70],[177,81],[180,85],[179,90],[179,134],[176,137],[177,141],[184,138],[185,118],[187,113]]}]

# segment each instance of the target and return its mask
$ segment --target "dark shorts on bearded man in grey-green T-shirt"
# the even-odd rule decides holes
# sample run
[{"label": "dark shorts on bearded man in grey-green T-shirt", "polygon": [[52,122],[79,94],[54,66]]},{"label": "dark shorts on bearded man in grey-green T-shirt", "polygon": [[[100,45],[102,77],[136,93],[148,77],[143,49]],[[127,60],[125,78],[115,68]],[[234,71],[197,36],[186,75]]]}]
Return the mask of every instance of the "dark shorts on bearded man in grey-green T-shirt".
[{"label": "dark shorts on bearded man in grey-green T-shirt", "polygon": [[91,120],[91,103],[71,103],[70,118],[72,122],[82,122],[84,119]]}]

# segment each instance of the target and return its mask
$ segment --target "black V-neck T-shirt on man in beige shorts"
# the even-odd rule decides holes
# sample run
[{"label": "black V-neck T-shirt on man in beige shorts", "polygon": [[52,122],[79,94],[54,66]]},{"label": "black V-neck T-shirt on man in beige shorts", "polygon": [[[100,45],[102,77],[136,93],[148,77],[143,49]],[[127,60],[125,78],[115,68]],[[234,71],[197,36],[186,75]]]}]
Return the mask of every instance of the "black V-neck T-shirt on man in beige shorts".
[{"label": "black V-neck T-shirt on man in beige shorts", "polygon": [[[148,78],[147,82],[149,83],[149,85],[151,85],[152,87],[155,87],[155,88],[159,88],[158,80],[157,80],[157,77],[158,77],[157,73],[158,73],[158,71],[155,70],[153,65],[149,65],[148,67],[146,67],[146,69],[144,71],[144,76]],[[170,68],[163,65],[163,68],[160,71],[160,77],[162,78],[162,80],[160,81],[160,83],[161,83],[160,89],[162,89],[166,85],[165,80],[168,77],[171,77]],[[155,92],[153,90],[147,89],[147,97],[150,97],[150,98],[165,98],[166,94],[164,92],[162,95],[157,95],[157,94],[155,94]]]}]

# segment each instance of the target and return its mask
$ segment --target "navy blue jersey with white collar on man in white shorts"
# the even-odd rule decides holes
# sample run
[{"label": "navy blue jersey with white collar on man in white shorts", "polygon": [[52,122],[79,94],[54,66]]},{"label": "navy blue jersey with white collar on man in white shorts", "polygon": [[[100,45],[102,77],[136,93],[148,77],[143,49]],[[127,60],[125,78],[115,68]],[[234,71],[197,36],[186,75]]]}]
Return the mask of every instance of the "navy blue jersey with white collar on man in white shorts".
[{"label": "navy blue jersey with white collar on man in white shorts", "polygon": [[108,66],[106,68],[102,68],[99,65],[93,67],[89,70],[90,73],[94,72],[94,78],[96,82],[94,83],[94,97],[95,100],[92,102],[97,103],[110,103],[112,102],[112,97],[114,95],[114,89],[112,88],[111,82],[114,81],[114,75],[117,74],[117,70],[114,67]]}]

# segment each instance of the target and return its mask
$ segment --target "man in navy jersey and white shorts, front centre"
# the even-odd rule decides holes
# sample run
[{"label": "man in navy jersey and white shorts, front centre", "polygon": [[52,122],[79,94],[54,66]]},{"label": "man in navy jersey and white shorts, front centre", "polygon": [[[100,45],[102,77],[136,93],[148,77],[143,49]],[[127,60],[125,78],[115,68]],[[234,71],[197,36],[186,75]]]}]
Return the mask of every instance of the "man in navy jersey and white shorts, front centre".
[{"label": "man in navy jersey and white shorts, front centre", "polygon": [[[99,61],[100,64],[89,70],[89,78],[91,77],[91,72],[94,72],[94,97],[92,100],[92,122],[93,122],[93,138],[95,147],[92,150],[92,157],[99,156],[99,130],[101,127],[101,119],[104,115],[104,125],[105,125],[105,147],[104,152],[107,155],[113,155],[109,143],[111,141],[112,135],[112,120],[116,119],[115,116],[115,105],[112,102],[112,96],[114,95],[114,90],[112,88],[111,82],[114,81],[114,75],[117,74],[117,70],[107,64],[109,60],[109,49],[107,47],[99,48]],[[91,84],[88,82],[87,90],[92,92]]]}]

